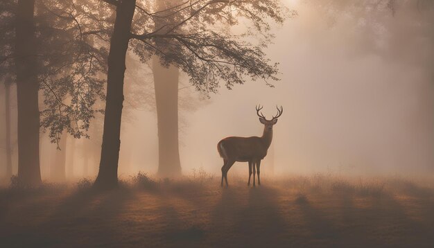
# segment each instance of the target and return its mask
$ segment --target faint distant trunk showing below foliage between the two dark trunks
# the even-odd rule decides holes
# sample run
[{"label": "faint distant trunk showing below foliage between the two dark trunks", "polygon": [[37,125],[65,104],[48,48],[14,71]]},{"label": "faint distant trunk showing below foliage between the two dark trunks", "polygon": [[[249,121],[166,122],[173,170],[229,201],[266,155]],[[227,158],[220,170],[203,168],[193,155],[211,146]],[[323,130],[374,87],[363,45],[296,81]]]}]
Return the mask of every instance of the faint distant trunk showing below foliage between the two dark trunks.
[{"label": "faint distant trunk showing below foliage between the two dark trunks", "polygon": [[65,181],[67,178],[67,134],[62,133],[59,142],[60,150],[56,149],[54,154],[54,163],[51,164],[51,179],[53,181]]}]

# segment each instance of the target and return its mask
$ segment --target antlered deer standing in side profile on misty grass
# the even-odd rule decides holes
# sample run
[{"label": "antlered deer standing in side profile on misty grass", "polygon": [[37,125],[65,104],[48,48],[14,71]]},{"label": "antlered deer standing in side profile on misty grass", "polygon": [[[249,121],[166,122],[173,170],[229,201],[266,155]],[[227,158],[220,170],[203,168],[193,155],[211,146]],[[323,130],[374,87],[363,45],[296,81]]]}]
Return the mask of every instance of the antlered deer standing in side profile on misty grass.
[{"label": "antlered deer standing in side profile on misty grass", "polygon": [[[255,187],[255,174],[258,172],[258,186],[261,185],[261,160],[266,157],[268,148],[270,148],[272,141],[272,126],[277,123],[277,118],[281,116],[284,112],[284,107],[276,106],[277,115],[272,116],[271,120],[267,120],[265,116],[263,116],[261,109],[261,105],[256,106],[257,115],[259,116],[259,122],[261,122],[263,127],[262,136],[250,136],[250,137],[238,137],[238,136],[229,136],[225,139],[222,139],[217,144],[218,154],[223,158],[223,166],[222,166],[222,180],[221,187],[223,188],[223,179],[225,179],[226,186],[227,184],[227,172],[234,165],[235,162],[248,162],[249,164],[249,181],[248,186],[250,186],[250,178],[253,173],[253,186]],[[255,168],[256,166],[256,168]]]}]

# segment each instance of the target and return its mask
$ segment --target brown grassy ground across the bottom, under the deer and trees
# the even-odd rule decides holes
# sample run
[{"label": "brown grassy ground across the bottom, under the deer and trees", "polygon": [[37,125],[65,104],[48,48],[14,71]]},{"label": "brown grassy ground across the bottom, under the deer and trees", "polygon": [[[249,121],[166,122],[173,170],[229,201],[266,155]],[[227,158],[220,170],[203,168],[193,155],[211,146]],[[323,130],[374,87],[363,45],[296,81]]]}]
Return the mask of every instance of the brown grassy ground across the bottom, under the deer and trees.
[{"label": "brown grassy ground across the bottom, under the deer and trees", "polygon": [[433,247],[434,188],[315,175],[0,192],[0,247]]}]

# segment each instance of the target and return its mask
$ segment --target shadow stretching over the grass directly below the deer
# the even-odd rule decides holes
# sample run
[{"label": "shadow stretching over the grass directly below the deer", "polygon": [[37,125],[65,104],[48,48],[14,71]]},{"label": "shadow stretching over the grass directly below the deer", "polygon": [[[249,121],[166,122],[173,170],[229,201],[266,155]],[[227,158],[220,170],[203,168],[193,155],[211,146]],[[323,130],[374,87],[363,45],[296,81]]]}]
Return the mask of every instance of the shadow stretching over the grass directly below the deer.
[{"label": "shadow stretching over the grass directly below the deer", "polygon": [[259,186],[224,188],[212,213],[209,241],[212,247],[269,247],[284,245],[284,219],[277,191]]}]

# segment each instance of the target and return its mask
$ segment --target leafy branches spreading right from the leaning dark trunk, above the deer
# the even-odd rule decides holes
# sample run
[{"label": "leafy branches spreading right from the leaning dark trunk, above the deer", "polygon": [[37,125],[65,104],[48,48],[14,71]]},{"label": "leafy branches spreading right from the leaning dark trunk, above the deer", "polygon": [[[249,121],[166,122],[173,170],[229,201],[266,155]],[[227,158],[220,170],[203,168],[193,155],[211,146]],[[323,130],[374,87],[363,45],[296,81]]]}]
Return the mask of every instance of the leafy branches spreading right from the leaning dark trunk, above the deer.
[{"label": "leafy branches spreading right from the leaning dark trunk, above the deer", "polygon": [[[270,64],[263,49],[270,44],[269,21],[281,24],[288,12],[277,0],[268,1],[186,1],[182,4],[152,6],[139,2],[132,30],[132,49],[143,62],[159,55],[162,64],[176,64],[198,91],[215,93],[220,82],[231,89],[245,82],[244,76],[278,80],[277,64]],[[157,8],[158,10],[158,8]],[[238,35],[228,32],[239,21],[250,21],[251,28]],[[247,38],[256,35],[256,45]]]}]

